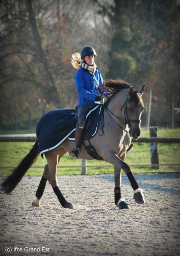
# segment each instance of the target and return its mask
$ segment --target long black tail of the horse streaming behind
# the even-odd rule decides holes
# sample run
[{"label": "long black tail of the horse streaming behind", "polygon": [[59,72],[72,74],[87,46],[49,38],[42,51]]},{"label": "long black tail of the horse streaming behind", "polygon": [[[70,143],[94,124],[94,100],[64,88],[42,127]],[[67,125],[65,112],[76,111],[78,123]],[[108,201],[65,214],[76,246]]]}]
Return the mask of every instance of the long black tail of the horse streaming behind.
[{"label": "long black tail of the horse streaming behind", "polygon": [[38,155],[38,142],[36,141],[33,148],[29,151],[25,158],[23,158],[19,165],[12,170],[12,173],[5,178],[1,184],[1,190],[6,194],[10,194],[21,181],[27,170],[32,166],[33,163],[35,163]]}]

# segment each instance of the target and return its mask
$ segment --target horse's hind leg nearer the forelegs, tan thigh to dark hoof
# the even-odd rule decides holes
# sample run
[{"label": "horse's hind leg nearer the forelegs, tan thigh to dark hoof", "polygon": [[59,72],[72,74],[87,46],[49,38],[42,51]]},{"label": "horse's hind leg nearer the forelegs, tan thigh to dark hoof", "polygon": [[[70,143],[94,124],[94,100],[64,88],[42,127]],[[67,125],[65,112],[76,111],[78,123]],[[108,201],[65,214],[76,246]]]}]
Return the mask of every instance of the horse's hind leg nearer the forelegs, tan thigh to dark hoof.
[{"label": "horse's hind leg nearer the forelegs, tan thigh to dark hoof", "polygon": [[53,191],[55,195],[57,196],[60,204],[62,205],[63,208],[69,208],[73,209],[73,204],[69,203],[66,201],[64,196],[62,195],[60,189],[58,188],[58,183],[57,183],[57,165],[58,162],[60,161],[61,156],[63,156],[66,153],[64,149],[61,149],[56,153],[56,151],[51,151],[48,154],[46,154],[46,159],[47,159],[47,164],[49,168],[49,182],[53,188]]}]

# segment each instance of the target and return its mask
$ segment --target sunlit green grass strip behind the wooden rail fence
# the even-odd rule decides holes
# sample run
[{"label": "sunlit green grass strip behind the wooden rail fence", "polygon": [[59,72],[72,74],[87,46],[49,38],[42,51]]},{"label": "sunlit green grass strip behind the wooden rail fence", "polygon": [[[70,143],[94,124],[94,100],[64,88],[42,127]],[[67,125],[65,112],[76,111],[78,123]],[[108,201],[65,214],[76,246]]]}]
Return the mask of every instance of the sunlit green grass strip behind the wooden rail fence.
[{"label": "sunlit green grass strip behind the wooden rail fence", "polygon": [[[34,131],[33,131],[34,132]],[[22,132],[21,132],[22,133]],[[28,131],[28,133],[30,133]],[[17,131],[19,134],[19,131]],[[142,129],[141,137],[149,137],[149,132]],[[180,137],[180,129],[158,129],[158,137]],[[0,143],[0,166],[15,167],[19,161],[29,152],[34,143],[32,142],[1,142]],[[158,144],[159,164],[180,163],[179,161],[180,144]],[[150,147],[149,143],[134,143],[134,149],[127,154],[126,163],[130,166],[132,164],[150,164]],[[46,159],[40,156],[35,163],[35,166],[44,166]],[[91,160],[87,162],[88,165],[109,165],[104,161]],[[80,166],[81,160],[70,158],[66,153],[59,166]],[[160,166],[159,170],[152,170],[151,167],[132,167],[134,173],[142,172],[169,172],[180,171],[178,166]],[[9,172],[8,169],[0,169],[0,176],[5,176]],[[92,174],[113,174],[113,167],[89,167],[87,173]],[[42,175],[43,169],[30,168],[27,171],[28,176]],[[73,175],[81,174],[79,167],[65,167],[58,168],[57,175]]]}]

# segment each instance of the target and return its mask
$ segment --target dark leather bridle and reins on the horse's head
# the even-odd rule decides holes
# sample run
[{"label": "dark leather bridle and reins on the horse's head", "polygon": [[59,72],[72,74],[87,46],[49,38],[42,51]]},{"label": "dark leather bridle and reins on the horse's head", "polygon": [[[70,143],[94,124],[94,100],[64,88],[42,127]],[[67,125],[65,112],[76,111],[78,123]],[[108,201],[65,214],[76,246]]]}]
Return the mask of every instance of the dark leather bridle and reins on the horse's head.
[{"label": "dark leather bridle and reins on the horse's head", "polygon": [[[128,95],[129,96],[129,95]],[[128,110],[127,110],[127,102],[128,102],[128,96],[126,97],[125,103],[122,106],[121,111],[124,108],[124,116],[125,116],[125,122],[122,121],[118,116],[116,116],[114,113],[112,113],[111,110],[109,110],[109,108],[107,108],[107,106],[103,106],[104,109],[106,110],[106,113],[109,115],[109,117],[112,119],[112,121],[115,122],[115,124],[117,124],[118,127],[120,127],[122,130],[124,130],[125,132],[129,132],[131,130],[131,125],[130,123],[136,123],[136,124],[140,124],[141,120],[139,119],[128,119]],[[120,122],[122,122],[127,128],[128,130],[126,130],[126,128],[123,128],[122,126],[120,126],[110,115],[110,113],[112,114],[112,116],[114,116],[115,118],[117,118]]]}]

